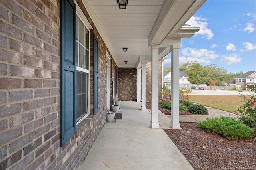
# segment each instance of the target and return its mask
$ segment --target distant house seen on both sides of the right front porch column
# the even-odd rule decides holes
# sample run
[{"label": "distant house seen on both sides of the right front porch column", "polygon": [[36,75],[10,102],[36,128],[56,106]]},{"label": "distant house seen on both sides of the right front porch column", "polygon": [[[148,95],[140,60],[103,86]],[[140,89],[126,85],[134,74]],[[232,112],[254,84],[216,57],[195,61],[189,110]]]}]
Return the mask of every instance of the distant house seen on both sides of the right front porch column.
[{"label": "distant house seen on both sides of the right front porch column", "polygon": [[[171,71],[164,71],[163,76],[164,76],[164,85],[168,88],[171,88],[171,83],[172,83]],[[185,71],[180,71],[179,78],[180,78],[179,80],[180,89],[190,89],[191,83],[190,81],[188,81],[188,75]]]}]

